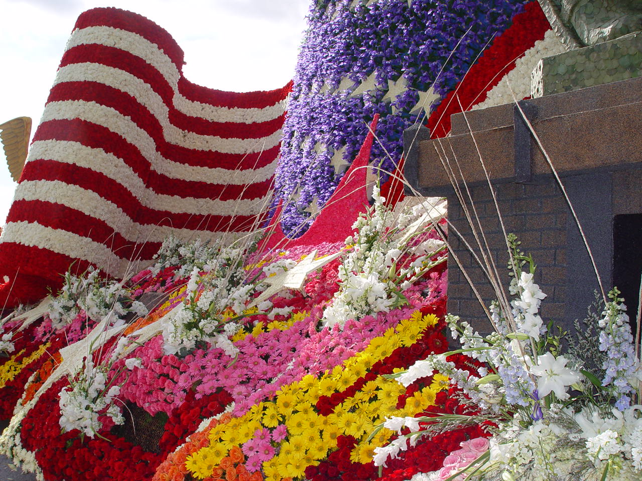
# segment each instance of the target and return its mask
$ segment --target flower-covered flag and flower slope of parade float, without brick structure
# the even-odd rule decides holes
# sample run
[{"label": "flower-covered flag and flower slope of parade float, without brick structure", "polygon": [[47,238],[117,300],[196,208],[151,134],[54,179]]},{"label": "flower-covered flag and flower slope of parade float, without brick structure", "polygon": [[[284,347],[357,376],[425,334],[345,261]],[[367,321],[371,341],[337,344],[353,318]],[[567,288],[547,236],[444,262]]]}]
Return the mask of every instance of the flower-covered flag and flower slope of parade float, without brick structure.
[{"label": "flower-covered flag and flower slope of parade float, without brick structure", "polygon": [[528,96],[560,48],[536,2],[315,1],[293,83],[231,94],[84,13],[0,243],[32,269],[3,273],[3,453],[46,481],[639,478],[617,291],[563,346],[511,238],[484,338],[446,316],[445,206],[395,183],[404,128]]}]

